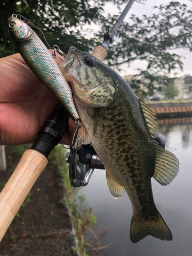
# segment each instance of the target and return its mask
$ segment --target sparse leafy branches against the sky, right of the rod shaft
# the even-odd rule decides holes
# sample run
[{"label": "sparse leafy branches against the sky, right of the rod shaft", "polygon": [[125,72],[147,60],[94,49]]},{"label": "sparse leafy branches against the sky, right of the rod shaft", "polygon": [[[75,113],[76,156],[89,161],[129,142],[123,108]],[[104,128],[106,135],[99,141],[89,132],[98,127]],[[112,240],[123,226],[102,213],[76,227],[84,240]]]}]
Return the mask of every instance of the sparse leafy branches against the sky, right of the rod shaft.
[{"label": "sparse leafy branches against the sky, right of the rod shaft", "polygon": [[[140,79],[145,86],[152,88],[161,74],[161,82],[168,84],[170,71],[183,68],[181,56],[170,50],[188,49],[192,51],[192,11],[179,2],[154,7],[150,17],[138,18],[132,15],[129,23],[124,23],[118,31],[118,41],[110,46],[107,56],[109,65],[120,67],[134,60],[146,60],[146,70],[138,70],[135,80]],[[114,23],[116,17],[108,16]],[[109,25],[106,22],[103,26]],[[174,29],[174,31],[173,31]]]}]

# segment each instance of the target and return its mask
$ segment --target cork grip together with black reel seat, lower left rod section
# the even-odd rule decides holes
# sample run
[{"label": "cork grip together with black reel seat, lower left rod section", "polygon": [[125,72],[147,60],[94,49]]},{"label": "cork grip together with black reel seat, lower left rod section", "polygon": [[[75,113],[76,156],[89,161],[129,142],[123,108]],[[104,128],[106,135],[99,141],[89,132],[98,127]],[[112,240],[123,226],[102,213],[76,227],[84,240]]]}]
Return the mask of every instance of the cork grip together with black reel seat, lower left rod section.
[{"label": "cork grip together with black reel seat, lower left rod section", "polygon": [[0,193],[0,242],[33,184],[48,164],[48,156],[68,131],[69,114],[58,103],[41,125],[31,149],[24,152]]}]

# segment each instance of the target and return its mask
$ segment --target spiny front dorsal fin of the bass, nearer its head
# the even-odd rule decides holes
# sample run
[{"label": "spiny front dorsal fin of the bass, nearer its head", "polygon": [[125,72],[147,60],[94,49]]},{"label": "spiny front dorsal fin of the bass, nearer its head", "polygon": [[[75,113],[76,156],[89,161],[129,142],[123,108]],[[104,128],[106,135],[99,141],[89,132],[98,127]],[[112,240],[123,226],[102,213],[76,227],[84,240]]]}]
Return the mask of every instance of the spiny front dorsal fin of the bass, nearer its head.
[{"label": "spiny front dorsal fin of the bass, nearer its head", "polygon": [[150,130],[150,134],[154,137],[158,130],[158,122],[155,113],[152,111],[151,106],[147,105],[144,100],[139,99],[141,108],[143,110],[143,114],[145,116],[145,120],[148,126],[148,130]]}]

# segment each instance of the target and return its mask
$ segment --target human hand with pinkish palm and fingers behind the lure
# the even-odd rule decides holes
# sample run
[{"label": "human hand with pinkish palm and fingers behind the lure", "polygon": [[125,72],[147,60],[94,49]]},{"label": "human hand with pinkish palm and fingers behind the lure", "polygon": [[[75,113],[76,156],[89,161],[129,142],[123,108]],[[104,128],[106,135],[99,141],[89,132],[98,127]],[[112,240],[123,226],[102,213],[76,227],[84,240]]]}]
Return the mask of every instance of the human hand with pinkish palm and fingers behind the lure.
[{"label": "human hand with pinkish palm and fingers behind the lure", "polygon": [[[57,57],[57,64],[61,60]],[[0,59],[0,138],[4,145],[33,143],[58,103],[29,69],[20,54]],[[69,118],[63,144],[70,145],[76,126]]]}]

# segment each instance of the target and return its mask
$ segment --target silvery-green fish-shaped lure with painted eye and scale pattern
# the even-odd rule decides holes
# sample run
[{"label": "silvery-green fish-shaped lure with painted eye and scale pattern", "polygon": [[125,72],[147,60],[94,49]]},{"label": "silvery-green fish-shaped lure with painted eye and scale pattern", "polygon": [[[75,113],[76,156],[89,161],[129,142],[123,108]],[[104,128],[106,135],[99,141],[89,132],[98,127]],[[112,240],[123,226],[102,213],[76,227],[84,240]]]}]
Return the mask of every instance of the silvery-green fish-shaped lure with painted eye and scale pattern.
[{"label": "silvery-green fish-shaped lure with painted eye and scale pattern", "polygon": [[79,119],[69,84],[44,43],[25,22],[16,17],[8,18],[8,30],[32,72],[55,94],[71,118]]}]

